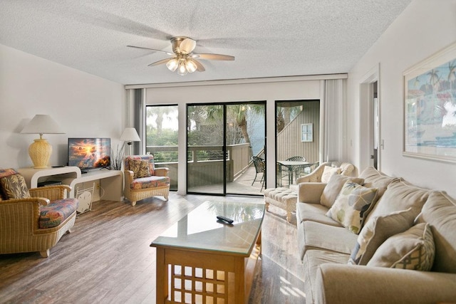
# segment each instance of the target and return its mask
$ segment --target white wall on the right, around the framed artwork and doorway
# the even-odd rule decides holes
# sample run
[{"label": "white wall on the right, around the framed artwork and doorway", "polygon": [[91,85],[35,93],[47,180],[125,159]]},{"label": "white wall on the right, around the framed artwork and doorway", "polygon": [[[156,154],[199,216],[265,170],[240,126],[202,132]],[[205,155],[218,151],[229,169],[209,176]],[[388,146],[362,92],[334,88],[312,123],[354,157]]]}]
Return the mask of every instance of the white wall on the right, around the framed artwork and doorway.
[{"label": "white wall on the right, around the framed artwork and doorway", "polygon": [[380,139],[385,142],[381,171],[456,197],[456,164],[402,155],[403,72],[454,41],[456,1],[414,0],[348,73],[348,143],[353,142],[348,154],[359,169],[366,164],[360,151],[368,145],[360,137],[366,128],[361,123],[366,113],[360,112],[360,83],[380,65]]}]

